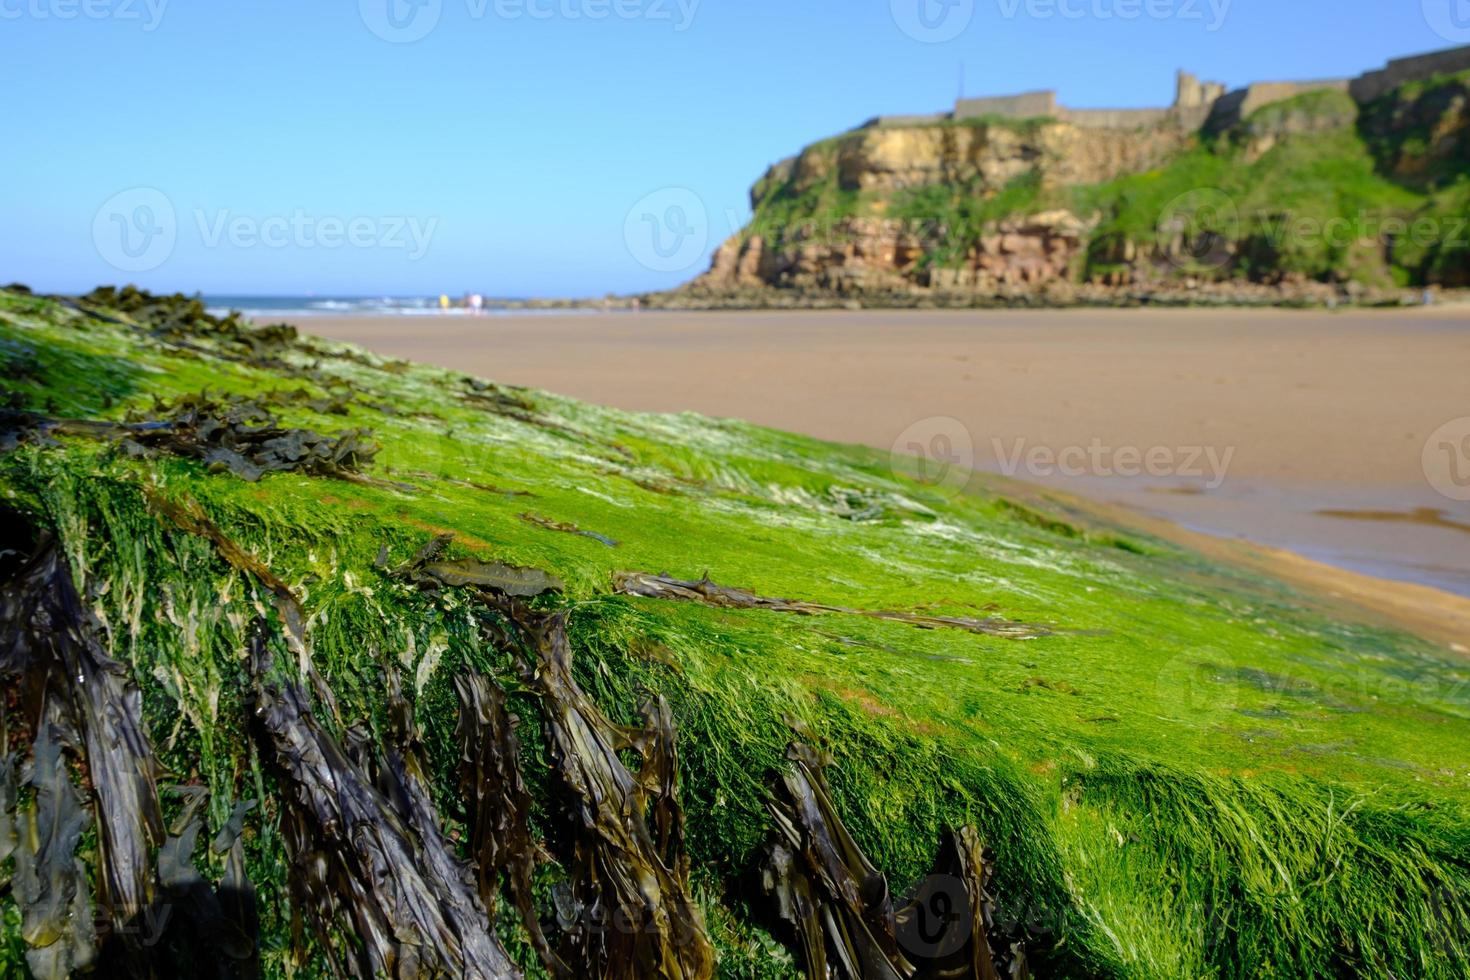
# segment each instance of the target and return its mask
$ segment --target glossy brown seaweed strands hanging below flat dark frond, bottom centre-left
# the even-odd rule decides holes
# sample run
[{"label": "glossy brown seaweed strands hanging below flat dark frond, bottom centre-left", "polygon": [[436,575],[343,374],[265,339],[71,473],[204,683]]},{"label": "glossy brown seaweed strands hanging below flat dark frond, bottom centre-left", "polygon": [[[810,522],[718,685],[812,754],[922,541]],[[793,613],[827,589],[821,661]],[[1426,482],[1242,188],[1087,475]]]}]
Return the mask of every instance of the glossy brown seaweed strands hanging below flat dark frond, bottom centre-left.
[{"label": "glossy brown seaweed strands hanging below flat dark frond, bottom centre-left", "polygon": [[[541,699],[551,763],[566,802],[566,836],[572,839],[572,854],[563,855],[572,884],[566,901],[559,901],[564,915],[557,959],[575,964],[578,976],[609,980],[711,976],[714,954],[688,882],[667,704],[645,704],[641,729],[613,724],[573,677],[566,614],[541,613],[520,601],[528,592],[559,589],[560,582],[531,569],[506,576],[504,566],[441,561],[448,542],[447,536],[437,538],[392,570],[385,554],[378,564],[429,591],[470,588],[485,605],[482,623],[492,639],[522,655],[525,679]],[[460,699],[462,785],[472,808],[482,890],[491,887],[488,876],[507,870],[513,895],[519,892],[522,918],[539,948],[539,926],[532,924],[535,912],[523,896],[534,871],[528,855],[535,852],[520,820],[529,802],[514,771],[509,718],[484,680],[462,679]],[[476,748],[473,739],[485,736],[491,746],[481,742]],[[642,760],[638,773],[628,768],[623,752]],[[490,786],[479,782],[487,776]],[[498,792],[501,807],[488,802],[491,790]],[[512,839],[506,839],[507,833]],[[548,959],[548,968],[556,973],[557,961]]]}]

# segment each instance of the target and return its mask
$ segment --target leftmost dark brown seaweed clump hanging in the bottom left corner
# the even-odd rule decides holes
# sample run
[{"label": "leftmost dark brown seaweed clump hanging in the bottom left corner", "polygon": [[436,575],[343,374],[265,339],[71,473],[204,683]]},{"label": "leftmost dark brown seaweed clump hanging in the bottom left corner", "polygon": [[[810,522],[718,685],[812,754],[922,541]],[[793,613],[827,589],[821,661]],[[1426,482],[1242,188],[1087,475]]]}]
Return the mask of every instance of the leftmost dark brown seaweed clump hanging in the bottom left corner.
[{"label": "leftmost dark brown seaweed clump hanging in the bottom left corner", "polygon": [[[26,962],[37,977],[65,977],[96,964],[104,976],[257,976],[257,921],[244,851],[232,840],[231,874],[216,892],[193,864],[204,799],[165,836],[157,763],[143,729],[141,698],[106,657],[56,544],[43,538],[7,583],[0,673],[19,688],[34,727],[28,783],[34,804],[15,810],[15,755],[0,763],[4,790],[0,851],[13,852],[13,893],[22,909]],[[71,780],[75,755],[90,807]],[[96,827],[97,902],[75,857]],[[154,860],[153,846],[160,845]]]}]

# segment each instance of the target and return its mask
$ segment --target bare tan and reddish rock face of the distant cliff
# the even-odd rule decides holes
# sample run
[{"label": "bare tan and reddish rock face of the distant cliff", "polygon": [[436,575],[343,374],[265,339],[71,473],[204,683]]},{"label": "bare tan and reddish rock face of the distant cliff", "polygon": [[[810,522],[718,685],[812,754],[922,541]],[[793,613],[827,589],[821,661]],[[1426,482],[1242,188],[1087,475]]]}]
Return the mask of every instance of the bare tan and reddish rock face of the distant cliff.
[{"label": "bare tan and reddish rock face of the distant cliff", "polygon": [[[931,282],[969,288],[1061,279],[1079,259],[1088,229],[1069,210],[1001,217],[989,234],[967,242],[958,267],[931,269],[929,260],[954,229],[916,204],[926,191],[957,191],[983,201],[1017,182],[1036,190],[1102,182],[1155,167],[1188,143],[1173,126],[1101,131],[1038,122],[861,129],[767,170],[751,191],[757,220],[720,247],[694,288],[864,292]],[[861,203],[844,203],[854,197]],[[894,210],[904,213],[889,216]]]}]

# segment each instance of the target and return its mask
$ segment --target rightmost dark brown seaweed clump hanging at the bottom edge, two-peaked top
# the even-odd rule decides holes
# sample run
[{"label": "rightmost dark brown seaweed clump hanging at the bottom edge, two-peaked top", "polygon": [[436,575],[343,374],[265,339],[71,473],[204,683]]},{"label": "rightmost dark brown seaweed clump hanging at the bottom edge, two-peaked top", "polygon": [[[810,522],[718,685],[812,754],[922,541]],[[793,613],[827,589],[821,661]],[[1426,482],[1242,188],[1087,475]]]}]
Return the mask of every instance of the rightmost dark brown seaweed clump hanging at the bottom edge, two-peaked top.
[{"label": "rightmost dark brown seaweed clump hanging at the bottom edge, two-peaked top", "polygon": [[795,939],[808,977],[845,980],[1020,980],[1020,942],[994,923],[992,864],[979,835],[948,835],[933,873],[897,912],[888,882],[842,824],[825,760],[788,752],[769,810],[779,839],[760,868],[775,920]]}]

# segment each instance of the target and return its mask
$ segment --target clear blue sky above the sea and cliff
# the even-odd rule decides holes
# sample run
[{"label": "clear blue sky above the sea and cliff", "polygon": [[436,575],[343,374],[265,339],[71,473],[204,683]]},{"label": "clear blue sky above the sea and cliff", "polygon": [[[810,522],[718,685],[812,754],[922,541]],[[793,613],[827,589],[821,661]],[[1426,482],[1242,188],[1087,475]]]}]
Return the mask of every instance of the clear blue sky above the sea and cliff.
[{"label": "clear blue sky above the sea and cliff", "polygon": [[0,279],[659,288],[772,162],[947,107],[961,65],[969,94],[1123,107],[1166,104],[1176,68],[1354,75],[1457,43],[1467,0],[0,0]]}]

